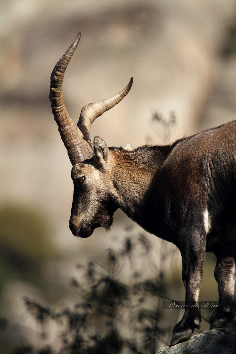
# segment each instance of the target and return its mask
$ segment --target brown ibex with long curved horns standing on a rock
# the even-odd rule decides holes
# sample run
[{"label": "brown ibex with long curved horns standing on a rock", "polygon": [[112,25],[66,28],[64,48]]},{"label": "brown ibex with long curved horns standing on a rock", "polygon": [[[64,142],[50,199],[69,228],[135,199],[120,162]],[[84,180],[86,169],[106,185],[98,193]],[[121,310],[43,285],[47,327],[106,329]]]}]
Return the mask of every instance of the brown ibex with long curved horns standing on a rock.
[{"label": "brown ibex with long curved horns standing on a rock", "polygon": [[[80,33],[54,67],[50,87],[54,119],[73,165],[71,232],[87,238],[99,226],[108,230],[121,208],[179,248],[186,305],[199,301],[205,252],[213,252],[219,304],[210,328],[226,326],[235,316],[236,121],[169,145],[108,148],[98,136],[92,143],[92,122],[127,95],[133,78],[116,95],[84,106],[76,125],[65,108],[62,82],[79,40]],[[200,322],[200,309],[187,306],[171,344],[189,339]]]}]

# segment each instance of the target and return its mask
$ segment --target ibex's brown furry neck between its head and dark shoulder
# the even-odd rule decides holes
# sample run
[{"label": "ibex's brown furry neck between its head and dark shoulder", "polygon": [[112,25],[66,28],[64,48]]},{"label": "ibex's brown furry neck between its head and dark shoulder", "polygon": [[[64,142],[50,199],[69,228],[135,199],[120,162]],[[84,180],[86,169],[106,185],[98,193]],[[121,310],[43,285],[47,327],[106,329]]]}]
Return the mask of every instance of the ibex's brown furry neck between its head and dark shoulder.
[{"label": "ibex's brown furry neck between its head and dark shoulder", "polygon": [[114,150],[115,203],[146,230],[146,212],[149,210],[147,206],[153,198],[153,179],[171,149],[169,145],[144,145],[132,151]]}]

